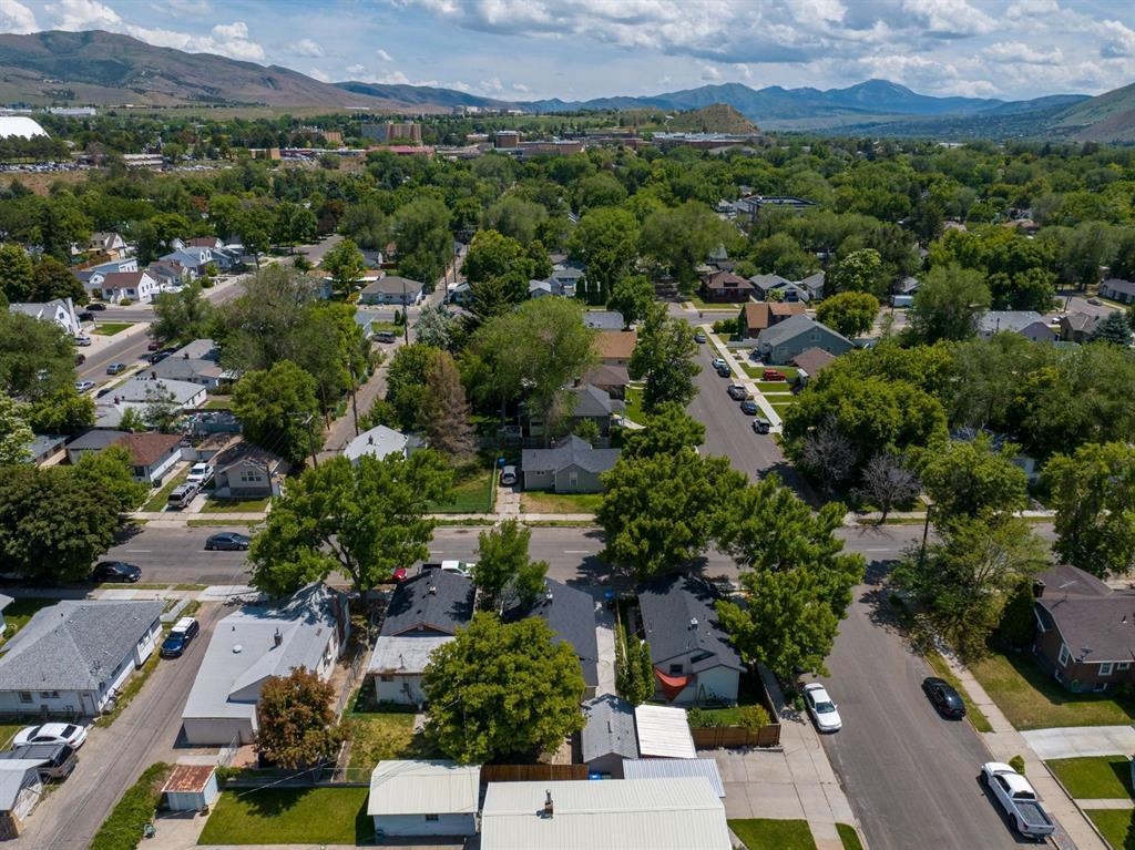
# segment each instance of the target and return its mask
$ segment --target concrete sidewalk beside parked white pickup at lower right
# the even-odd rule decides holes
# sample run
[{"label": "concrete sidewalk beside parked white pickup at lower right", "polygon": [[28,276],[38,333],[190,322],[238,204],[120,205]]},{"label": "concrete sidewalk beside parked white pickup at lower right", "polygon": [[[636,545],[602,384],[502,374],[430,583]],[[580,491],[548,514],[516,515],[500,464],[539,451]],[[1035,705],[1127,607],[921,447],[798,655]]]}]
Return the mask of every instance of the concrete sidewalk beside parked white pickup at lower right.
[{"label": "concrete sidewalk beside parked white pickup at lower right", "polygon": [[1100,838],[1095,827],[1087,819],[1076,802],[1049,773],[1048,767],[1028,743],[1028,739],[1015,730],[997,704],[982,688],[968,667],[964,667],[952,654],[943,653],[950,670],[969,693],[969,701],[982,710],[993,727],[992,732],[982,733],[985,746],[997,761],[1008,761],[1014,756],[1025,759],[1025,774],[1036,789],[1044,808],[1058,820],[1053,843],[1060,850],[1108,850],[1107,843]]}]

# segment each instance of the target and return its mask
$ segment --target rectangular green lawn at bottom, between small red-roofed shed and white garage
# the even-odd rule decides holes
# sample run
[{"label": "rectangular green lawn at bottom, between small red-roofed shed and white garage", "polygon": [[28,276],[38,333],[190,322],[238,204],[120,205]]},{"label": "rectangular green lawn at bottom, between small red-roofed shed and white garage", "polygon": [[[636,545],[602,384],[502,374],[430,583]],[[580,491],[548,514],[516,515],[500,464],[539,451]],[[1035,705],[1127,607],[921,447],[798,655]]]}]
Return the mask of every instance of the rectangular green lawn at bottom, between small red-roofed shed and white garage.
[{"label": "rectangular green lawn at bottom, between small red-roofed shed and white garage", "polygon": [[199,844],[364,844],[375,836],[367,788],[225,791]]}]

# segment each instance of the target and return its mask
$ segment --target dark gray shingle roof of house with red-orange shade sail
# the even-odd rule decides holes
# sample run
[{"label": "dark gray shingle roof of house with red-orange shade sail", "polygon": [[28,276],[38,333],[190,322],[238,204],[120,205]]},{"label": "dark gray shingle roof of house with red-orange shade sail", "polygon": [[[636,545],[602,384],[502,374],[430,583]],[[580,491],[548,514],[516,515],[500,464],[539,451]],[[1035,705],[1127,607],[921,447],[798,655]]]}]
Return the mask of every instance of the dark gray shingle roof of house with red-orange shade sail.
[{"label": "dark gray shingle roof of house with red-orange shade sail", "polygon": [[[638,596],[650,659],[656,666],[691,654],[695,673],[716,666],[743,670],[741,657],[718,624],[713,607],[717,594],[709,582],[691,575],[667,575],[639,587]],[[697,659],[699,653],[705,656]]]}]

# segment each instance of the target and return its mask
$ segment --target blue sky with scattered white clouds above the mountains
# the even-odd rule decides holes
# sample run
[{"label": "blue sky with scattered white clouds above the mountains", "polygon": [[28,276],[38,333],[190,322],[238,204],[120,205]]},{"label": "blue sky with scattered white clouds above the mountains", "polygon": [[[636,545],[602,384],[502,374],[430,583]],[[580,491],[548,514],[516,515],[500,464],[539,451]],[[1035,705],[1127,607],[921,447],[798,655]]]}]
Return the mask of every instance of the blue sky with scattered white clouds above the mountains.
[{"label": "blue sky with scattered white clouds above the mountains", "polygon": [[508,101],[871,78],[1020,100],[1135,82],[1135,0],[0,0],[0,32],[41,30]]}]

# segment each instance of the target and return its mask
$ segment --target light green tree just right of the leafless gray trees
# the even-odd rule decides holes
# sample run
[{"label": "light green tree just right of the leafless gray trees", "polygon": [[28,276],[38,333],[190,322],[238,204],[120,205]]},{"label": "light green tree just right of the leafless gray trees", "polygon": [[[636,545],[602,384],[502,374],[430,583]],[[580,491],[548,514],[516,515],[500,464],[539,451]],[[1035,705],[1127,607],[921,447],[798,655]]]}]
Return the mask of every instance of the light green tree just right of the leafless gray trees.
[{"label": "light green tree just right of the leafless gray trees", "polygon": [[1014,513],[1028,504],[1028,479],[1012,463],[1016,446],[995,447],[984,434],[973,440],[948,440],[920,452],[916,460],[926,495],[940,516]]}]

